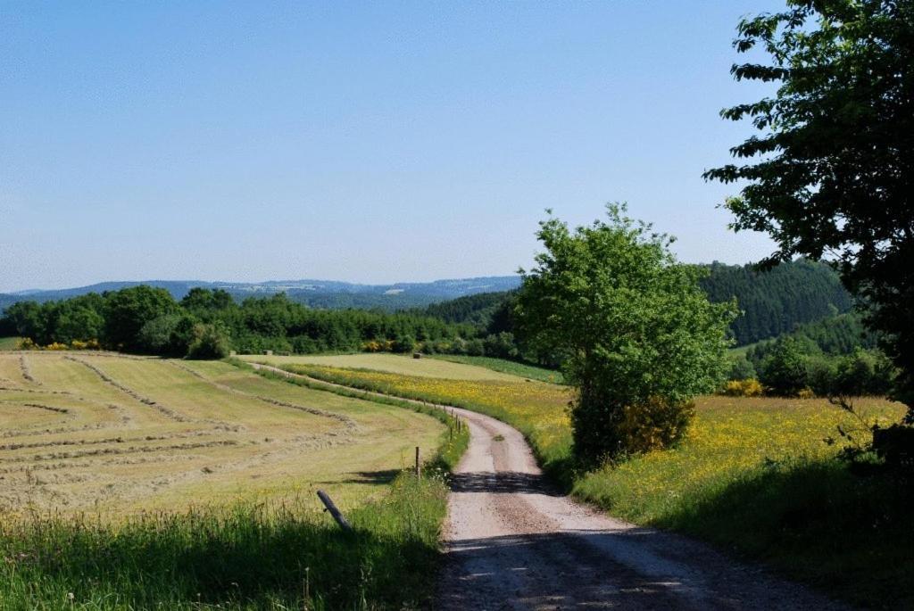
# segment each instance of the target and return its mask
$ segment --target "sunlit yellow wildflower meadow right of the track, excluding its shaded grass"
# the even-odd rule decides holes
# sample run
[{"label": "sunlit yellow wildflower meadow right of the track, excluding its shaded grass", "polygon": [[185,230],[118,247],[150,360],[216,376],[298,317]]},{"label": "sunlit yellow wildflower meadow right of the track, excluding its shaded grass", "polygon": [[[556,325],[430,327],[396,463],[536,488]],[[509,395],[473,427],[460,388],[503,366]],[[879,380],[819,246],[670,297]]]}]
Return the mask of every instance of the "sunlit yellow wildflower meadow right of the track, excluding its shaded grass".
[{"label": "sunlit yellow wildflower meadow right of the track, excluding its shaded grass", "polygon": [[[389,395],[462,406],[497,417],[522,431],[543,466],[571,483],[563,463],[571,450],[567,386],[515,378],[513,382],[435,379],[356,369],[293,366],[290,370]],[[904,407],[879,398],[856,406],[870,423],[897,422]],[[614,514],[654,522],[676,511],[685,497],[722,487],[755,469],[834,456],[836,427],[861,428],[825,399],[700,396],[696,417],[676,447],[632,457],[579,474],[575,492]],[[866,436],[866,431],[861,431]]]}]

